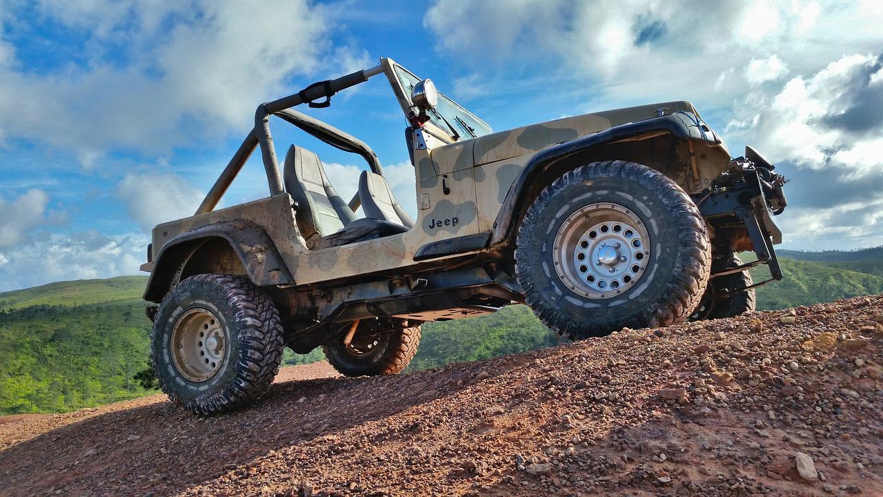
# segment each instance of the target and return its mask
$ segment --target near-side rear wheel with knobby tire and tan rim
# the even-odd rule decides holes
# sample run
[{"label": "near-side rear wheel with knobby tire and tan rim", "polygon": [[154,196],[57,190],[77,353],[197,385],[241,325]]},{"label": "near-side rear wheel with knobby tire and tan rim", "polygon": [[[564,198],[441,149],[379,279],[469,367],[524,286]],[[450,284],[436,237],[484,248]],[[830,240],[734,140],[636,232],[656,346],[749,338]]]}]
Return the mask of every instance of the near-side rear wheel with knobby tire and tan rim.
[{"label": "near-side rear wheel with knobby tire and tan rim", "polygon": [[266,393],[279,372],[279,312],[245,278],[192,276],[162,299],[151,352],[171,401],[201,415],[237,409]]}]

